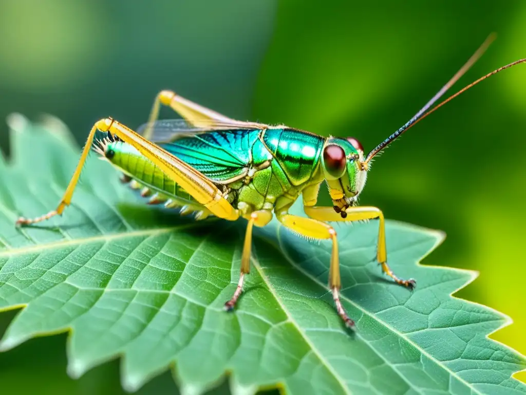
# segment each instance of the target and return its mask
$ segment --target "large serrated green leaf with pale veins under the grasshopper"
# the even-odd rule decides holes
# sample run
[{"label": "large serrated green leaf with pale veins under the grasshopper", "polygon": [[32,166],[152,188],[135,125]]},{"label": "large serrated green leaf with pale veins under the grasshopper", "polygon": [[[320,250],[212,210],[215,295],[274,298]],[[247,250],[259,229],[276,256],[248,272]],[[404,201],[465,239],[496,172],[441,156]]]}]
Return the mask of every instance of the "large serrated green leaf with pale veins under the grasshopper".
[{"label": "large serrated green leaf with pale veins under the grasshopper", "polygon": [[487,337],[511,320],[451,297],[475,274],[418,264],[441,233],[388,222],[389,262],[417,279],[410,292],[382,278],[376,222],[337,228],[352,332],[326,285],[330,244],[272,222],[256,233],[246,291],[229,314],[222,306],[236,288],[242,221],[194,222],[140,204],[107,163],[90,159],[62,218],[15,229],[18,215],[55,207],[78,150],[64,131],[21,116],[10,125],[12,161],[0,161],[0,308],[24,309],[2,350],[70,331],[70,376],[122,356],[128,390],[173,367],[186,393],[225,372],[234,393],[276,384],[291,394],[526,393],[511,378],[524,357]]}]

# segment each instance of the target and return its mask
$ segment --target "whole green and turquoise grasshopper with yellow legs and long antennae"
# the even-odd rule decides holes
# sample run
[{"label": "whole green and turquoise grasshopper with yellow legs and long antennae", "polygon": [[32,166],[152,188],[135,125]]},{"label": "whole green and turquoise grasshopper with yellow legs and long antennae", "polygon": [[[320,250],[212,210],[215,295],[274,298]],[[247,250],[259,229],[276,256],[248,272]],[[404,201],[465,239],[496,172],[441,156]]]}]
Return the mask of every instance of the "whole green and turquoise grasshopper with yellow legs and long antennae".
[{"label": "whole green and turquoise grasshopper with yellow legs and long antennae", "polygon": [[[358,196],[373,157],[402,133],[485,78],[526,62],[522,59],[503,66],[431,108],[476,62],[485,47],[487,43],[409,122],[367,156],[353,138],[322,137],[284,125],[237,121],[174,92],[161,91],[142,135],[113,118],[96,122],[57,208],[38,218],[19,218],[17,224],[34,224],[62,214],[72,200],[80,172],[93,149],[123,172],[125,181],[130,181],[133,187],[143,187],[143,195],[154,192],[149,201],[152,204],[180,207],[181,214],[196,212],[196,219],[215,215],[229,221],[240,217],[248,221],[239,282],[232,298],[225,303],[227,310],[234,309],[250,270],[252,228],[267,225],[273,212],[282,225],[300,235],[331,240],[329,287],[338,314],[352,327],[354,322],[339,299],[338,241],[335,229],[328,222],[379,219],[377,259],[383,272],[400,285],[415,287],[415,280],[398,278],[387,264],[382,211],[373,206],[358,206]],[[157,121],[161,105],[173,108],[185,119]],[[97,139],[97,131],[104,133],[104,137]],[[323,182],[328,186],[332,207],[316,206]],[[288,213],[300,195],[308,218]]]}]

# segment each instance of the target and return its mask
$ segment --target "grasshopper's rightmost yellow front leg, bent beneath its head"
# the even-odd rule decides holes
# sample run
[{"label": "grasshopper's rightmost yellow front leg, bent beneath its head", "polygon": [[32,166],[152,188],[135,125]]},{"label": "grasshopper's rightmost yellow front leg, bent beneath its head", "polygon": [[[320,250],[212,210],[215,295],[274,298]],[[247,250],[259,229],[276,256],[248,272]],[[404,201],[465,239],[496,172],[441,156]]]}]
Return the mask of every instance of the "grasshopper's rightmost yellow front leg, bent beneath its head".
[{"label": "grasshopper's rightmost yellow front leg, bent beneath its head", "polygon": [[386,224],[383,218],[382,211],[377,207],[372,206],[352,206],[345,210],[347,215],[342,216],[341,213],[337,213],[332,207],[305,207],[305,213],[310,217],[320,221],[360,221],[360,220],[372,220],[379,219],[379,230],[378,230],[378,246],[377,246],[377,259],[382,265],[382,270],[390,278],[395,280],[396,283],[404,285],[409,289],[416,287],[417,282],[413,279],[402,280],[400,279],[387,264],[387,248],[386,248]]}]

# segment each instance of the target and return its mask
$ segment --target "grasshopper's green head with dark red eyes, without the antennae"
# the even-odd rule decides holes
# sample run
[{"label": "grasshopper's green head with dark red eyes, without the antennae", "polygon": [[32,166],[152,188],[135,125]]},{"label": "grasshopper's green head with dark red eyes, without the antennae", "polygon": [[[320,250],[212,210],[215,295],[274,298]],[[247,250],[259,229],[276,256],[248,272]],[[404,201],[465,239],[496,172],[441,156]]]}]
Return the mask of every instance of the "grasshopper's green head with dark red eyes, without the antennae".
[{"label": "grasshopper's green head with dark red eyes, without the antennae", "polygon": [[345,218],[345,209],[356,203],[367,179],[363,147],[353,137],[330,137],[323,147],[321,166],[335,210]]}]

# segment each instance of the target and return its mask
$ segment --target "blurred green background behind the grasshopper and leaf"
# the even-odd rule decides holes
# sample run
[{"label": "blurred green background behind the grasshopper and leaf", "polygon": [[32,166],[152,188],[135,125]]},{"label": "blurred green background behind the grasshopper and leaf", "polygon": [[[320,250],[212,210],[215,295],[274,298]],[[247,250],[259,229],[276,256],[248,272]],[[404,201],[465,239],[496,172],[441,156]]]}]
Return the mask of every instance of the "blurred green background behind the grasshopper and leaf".
[{"label": "blurred green background behind the grasshopper and leaf", "polygon": [[[458,88],[526,57],[524,21],[523,0],[1,0],[0,118],[53,114],[80,143],[100,117],[145,122],[155,94],[171,88],[241,120],[355,136],[367,151],[489,33],[497,41]],[[480,271],[458,295],[510,315],[514,324],[492,338],[522,353],[525,129],[521,65],[411,129],[375,162],[361,197],[387,218],[445,231],[424,262]],[[0,145],[7,149],[5,123]],[[0,333],[15,314],[0,314]],[[69,379],[65,341],[35,339],[0,354],[0,391],[122,392],[117,361]],[[140,393],[176,388],[166,373]]]}]

